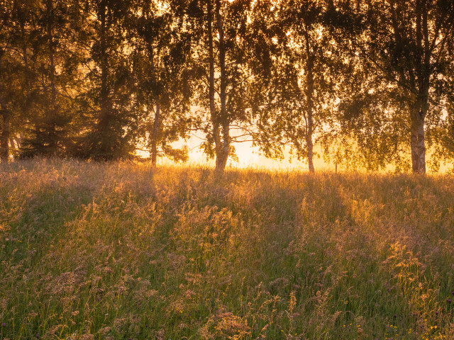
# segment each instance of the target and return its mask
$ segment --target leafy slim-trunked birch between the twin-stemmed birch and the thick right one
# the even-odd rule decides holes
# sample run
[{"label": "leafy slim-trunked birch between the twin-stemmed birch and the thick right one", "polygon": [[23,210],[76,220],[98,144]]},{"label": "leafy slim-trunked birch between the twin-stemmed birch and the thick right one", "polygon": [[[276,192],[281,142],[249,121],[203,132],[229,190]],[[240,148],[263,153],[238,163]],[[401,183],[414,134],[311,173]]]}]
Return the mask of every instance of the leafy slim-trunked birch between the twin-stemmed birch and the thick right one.
[{"label": "leafy slim-trunked birch between the twin-stemmed birch and the thick right one", "polygon": [[[309,149],[332,129],[338,91],[339,52],[331,27],[330,1],[279,1],[255,20],[262,31],[267,16],[275,16],[279,28],[267,31],[272,61],[262,62],[258,72],[265,78],[265,96],[257,103],[256,140],[269,157],[279,157],[291,145],[298,159],[307,159]],[[268,23],[269,26],[270,23]],[[266,34],[266,33],[265,33]],[[263,79],[259,79],[263,81]],[[258,86],[259,91],[263,91]],[[310,158],[312,155],[310,156]]]}]

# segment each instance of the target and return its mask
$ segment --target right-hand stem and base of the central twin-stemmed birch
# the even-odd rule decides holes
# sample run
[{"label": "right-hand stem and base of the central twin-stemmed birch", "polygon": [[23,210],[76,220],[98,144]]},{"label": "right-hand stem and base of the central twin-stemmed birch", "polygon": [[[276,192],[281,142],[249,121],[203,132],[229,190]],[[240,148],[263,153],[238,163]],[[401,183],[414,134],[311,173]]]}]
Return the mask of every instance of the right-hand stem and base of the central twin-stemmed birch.
[{"label": "right-hand stem and base of the central twin-stemmed birch", "polygon": [[219,89],[219,100],[221,101],[221,114],[219,115],[222,126],[222,142],[219,140],[216,145],[216,169],[224,171],[226,168],[228,154],[230,152],[230,122],[227,114],[227,95],[226,95],[226,45],[224,44],[224,32],[221,16],[221,1],[216,0],[216,23],[218,26],[219,36],[219,69],[221,76],[221,84]]}]

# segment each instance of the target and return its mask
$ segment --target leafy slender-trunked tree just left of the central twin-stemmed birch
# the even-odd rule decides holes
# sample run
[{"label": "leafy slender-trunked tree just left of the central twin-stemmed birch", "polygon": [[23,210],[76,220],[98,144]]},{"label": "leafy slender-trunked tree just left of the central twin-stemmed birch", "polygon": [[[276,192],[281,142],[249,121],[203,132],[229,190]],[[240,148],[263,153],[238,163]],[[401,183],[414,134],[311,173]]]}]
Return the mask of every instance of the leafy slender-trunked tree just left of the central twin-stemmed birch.
[{"label": "leafy slender-trunked tree just left of the central twin-stemmed birch", "polygon": [[143,111],[139,126],[142,144],[152,159],[166,156],[184,160],[184,149],[172,142],[189,137],[194,79],[187,67],[191,41],[172,15],[170,6],[138,1],[128,17],[128,35],[134,37],[133,77],[136,105]]}]

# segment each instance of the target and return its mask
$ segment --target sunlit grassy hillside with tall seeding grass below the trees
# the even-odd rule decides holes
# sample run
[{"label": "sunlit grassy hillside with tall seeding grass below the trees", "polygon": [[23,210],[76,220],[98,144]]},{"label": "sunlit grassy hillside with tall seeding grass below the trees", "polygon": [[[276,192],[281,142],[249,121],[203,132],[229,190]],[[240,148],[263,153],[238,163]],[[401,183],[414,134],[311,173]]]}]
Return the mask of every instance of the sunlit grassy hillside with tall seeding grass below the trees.
[{"label": "sunlit grassy hillside with tall seeding grass below the trees", "polygon": [[0,164],[0,339],[453,339],[452,176]]}]

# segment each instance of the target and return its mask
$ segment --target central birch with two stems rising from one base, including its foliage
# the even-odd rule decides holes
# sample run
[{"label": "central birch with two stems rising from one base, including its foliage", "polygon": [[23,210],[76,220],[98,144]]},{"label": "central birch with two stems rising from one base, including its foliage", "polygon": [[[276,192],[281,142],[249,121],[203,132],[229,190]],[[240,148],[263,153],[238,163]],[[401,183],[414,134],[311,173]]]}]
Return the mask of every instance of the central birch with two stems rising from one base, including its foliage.
[{"label": "central birch with two stems rising from one base, including its foliage", "polygon": [[[223,171],[243,141],[248,127],[248,70],[245,31],[250,0],[191,1],[186,5],[187,27],[194,45],[192,69],[198,79],[196,100],[199,129],[206,135],[201,147]],[[233,134],[232,130],[242,131]]]}]

